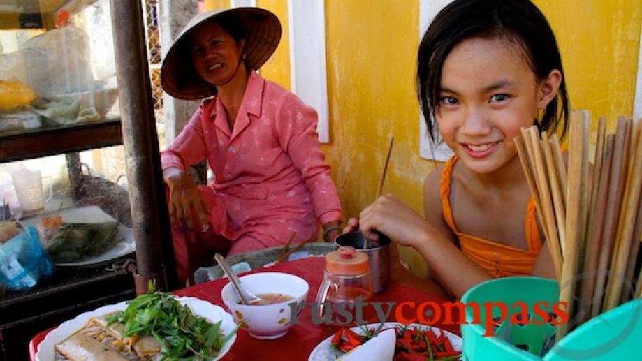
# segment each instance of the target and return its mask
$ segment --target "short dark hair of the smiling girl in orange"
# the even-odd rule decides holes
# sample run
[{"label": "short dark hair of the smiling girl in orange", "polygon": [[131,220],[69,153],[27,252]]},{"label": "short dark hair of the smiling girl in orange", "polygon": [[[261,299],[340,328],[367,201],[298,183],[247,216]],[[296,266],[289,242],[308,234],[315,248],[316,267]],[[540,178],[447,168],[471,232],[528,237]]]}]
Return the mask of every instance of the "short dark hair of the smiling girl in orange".
[{"label": "short dark hair of the smiling girl in orange", "polygon": [[530,0],[455,0],[437,14],[419,45],[417,95],[432,140],[437,142],[439,133],[435,113],[444,61],[453,47],[470,38],[504,38],[520,45],[539,80],[546,79],[553,69],[562,73],[557,95],[534,125],[539,131],[555,131],[561,123],[560,138],[564,138],[569,97],[560,51],[546,17]]}]

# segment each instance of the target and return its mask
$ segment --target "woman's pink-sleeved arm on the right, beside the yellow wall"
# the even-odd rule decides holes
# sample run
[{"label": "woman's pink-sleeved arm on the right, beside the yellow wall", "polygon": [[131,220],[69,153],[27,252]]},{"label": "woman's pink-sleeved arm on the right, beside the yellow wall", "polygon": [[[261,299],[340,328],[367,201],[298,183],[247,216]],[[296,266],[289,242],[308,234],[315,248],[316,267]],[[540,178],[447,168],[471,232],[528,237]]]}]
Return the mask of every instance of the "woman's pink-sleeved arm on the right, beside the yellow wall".
[{"label": "woman's pink-sleeved arm on the right, beside the yellow wall", "polygon": [[[342,218],[337,189],[330,177],[330,166],[321,152],[316,133],[316,111],[305,105],[296,95],[287,92],[279,100],[275,115],[275,130],[279,143],[301,172],[306,188],[312,196],[314,214],[324,230],[338,226]],[[336,237],[340,229],[328,234]]]}]

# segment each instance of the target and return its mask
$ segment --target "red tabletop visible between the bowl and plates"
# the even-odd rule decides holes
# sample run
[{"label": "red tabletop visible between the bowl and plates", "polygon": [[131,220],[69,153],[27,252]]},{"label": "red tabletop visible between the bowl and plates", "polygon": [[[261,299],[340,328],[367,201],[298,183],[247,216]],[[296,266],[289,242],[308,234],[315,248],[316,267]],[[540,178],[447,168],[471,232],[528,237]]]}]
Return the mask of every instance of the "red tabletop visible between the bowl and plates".
[{"label": "red tabletop visible between the bowl and plates", "polygon": [[[293,260],[288,263],[280,263],[272,267],[265,267],[261,270],[251,272],[279,271],[296,274],[309,283],[308,302],[314,302],[316,290],[323,280],[324,258],[312,257]],[[250,273],[251,273],[250,272]],[[225,307],[221,300],[221,289],[228,282],[227,279],[218,279],[207,283],[201,283],[189,288],[183,288],[175,292],[180,296],[198,297],[202,300],[210,301]],[[424,293],[420,290],[404,286],[401,283],[391,282],[388,290],[372,297],[368,302],[425,302],[432,301],[437,303],[446,302],[438,297]],[[385,307],[385,306],[384,306]],[[384,310],[387,309],[384,308]],[[406,315],[410,316],[410,315]],[[376,322],[376,318],[365,317],[369,322]],[[394,312],[388,316],[387,321],[394,320]],[[444,330],[460,334],[458,325],[437,325]],[[323,341],[326,337],[333,334],[337,329],[334,326],[314,325],[310,317],[310,307],[303,310],[298,325],[294,325],[289,332],[282,338],[276,340],[258,340],[251,337],[245,330],[239,330],[237,339],[233,344],[230,352],[223,360],[307,360],[308,355],[314,347]],[[29,353],[31,360],[35,360],[36,349],[38,344],[45,338],[50,330],[45,330],[31,339],[29,342]]]}]

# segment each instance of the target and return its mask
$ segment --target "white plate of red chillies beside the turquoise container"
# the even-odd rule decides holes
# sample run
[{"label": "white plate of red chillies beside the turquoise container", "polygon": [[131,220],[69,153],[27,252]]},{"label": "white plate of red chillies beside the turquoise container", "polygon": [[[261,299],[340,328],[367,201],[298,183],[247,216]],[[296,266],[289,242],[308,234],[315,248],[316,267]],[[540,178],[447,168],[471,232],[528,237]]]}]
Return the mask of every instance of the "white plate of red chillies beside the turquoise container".
[{"label": "white plate of red chillies beside the turquoise container", "polygon": [[[379,328],[381,330],[379,330]],[[395,329],[395,355],[393,361],[450,361],[461,359],[462,338],[439,327],[411,323],[370,323],[355,327],[343,327],[333,336],[316,345],[309,361],[333,361],[349,355],[354,348],[372,339],[377,330]],[[430,346],[430,347],[429,347]]]}]

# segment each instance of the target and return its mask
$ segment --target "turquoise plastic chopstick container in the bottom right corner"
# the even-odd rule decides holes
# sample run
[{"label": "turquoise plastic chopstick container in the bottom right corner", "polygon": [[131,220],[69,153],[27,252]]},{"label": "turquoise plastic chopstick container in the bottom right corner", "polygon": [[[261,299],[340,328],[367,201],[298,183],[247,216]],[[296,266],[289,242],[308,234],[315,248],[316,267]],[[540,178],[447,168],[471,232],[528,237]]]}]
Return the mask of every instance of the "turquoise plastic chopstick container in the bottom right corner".
[{"label": "turquoise plastic chopstick container in the bottom right corner", "polygon": [[[557,282],[538,277],[506,277],[481,283],[462,297],[462,302],[504,302],[509,307],[523,302],[532,310],[535,302],[550,305],[559,300]],[[483,307],[481,320],[486,320]],[[493,315],[500,310],[493,308]],[[466,307],[466,321],[473,320],[472,307]],[[509,316],[510,317],[510,316]],[[508,320],[509,317],[506,319]],[[642,360],[642,299],[633,300],[593,318],[555,344],[544,358],[539,351],[555,333],[555,327],[544,325],[509,325],[504,322],[495,330],[500,337],[483,337],[484,325],[462,325],[463,360]],[[514,345],[524,345],[524,348]]]}]

